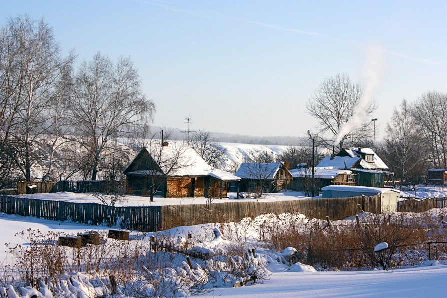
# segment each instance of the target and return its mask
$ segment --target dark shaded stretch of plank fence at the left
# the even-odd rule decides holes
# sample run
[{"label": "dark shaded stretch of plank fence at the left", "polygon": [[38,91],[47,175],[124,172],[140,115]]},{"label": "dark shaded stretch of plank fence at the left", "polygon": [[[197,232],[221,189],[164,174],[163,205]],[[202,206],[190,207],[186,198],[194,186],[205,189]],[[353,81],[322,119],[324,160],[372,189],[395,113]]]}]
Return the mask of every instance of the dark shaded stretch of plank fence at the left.
[{"label": "dark shaded stretch of plank fence at the left", "polygon": [[112,226],[121,221],[127,229],[157,231],[161,227],[161,207],[115,207],[96,203],[72,203],[0,196],[0,211],[49,220],[72,220],[84,224]]}]

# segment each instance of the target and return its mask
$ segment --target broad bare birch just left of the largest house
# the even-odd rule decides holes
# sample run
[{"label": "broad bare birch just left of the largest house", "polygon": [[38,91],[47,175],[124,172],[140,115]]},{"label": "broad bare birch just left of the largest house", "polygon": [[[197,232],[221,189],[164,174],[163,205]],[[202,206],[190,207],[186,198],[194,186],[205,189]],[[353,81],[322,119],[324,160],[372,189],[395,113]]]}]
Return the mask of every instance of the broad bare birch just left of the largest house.
[{"label": "broad bare birch just left of the largest house", "polygon": [[74,76],[69,116],[78,134],[74,138],[92,161],[91,179],[96,180],[101,162],[117,148],[113,140],[136,131],[155,105],[141,93],[139,76],[129,58],[113,65],[101,54],[83,62]]}]

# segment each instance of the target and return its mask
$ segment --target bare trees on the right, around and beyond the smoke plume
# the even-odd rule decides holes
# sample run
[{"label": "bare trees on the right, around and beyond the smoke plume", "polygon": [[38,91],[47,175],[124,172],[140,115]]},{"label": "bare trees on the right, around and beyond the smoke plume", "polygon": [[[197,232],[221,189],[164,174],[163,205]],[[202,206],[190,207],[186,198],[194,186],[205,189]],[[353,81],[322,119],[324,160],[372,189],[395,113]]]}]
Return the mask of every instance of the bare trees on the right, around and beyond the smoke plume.
[{"label": "bare trees on the right, around and beyond the smoke plume", "polygon": [[[374,142],[377,131],[372,118],[377,104],[371,99],[366,106],[360,106],[362,95],[363,87],[352,82],[347,74],[337,74],[320,83],[306,105],[308,113],[318,120],[315,135],[319,146],[372,147],[402,184],[424,183],[429,168],[447,167],[446,93],[430,91],[414,102],[402,100],[387,121],[386,136],[381,142]],[[364,109],[366,118],[338,136],[359,108]],[[340,142],[335,144],[337,137]]]}]

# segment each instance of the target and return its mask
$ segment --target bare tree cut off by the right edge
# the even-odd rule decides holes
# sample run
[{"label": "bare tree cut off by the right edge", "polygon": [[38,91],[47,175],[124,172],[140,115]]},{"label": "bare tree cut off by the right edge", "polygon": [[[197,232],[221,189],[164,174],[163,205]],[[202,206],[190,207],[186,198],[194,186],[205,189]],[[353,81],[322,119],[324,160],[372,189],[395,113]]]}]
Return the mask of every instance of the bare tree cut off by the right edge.
[{"label": "bare tree cut off by the right edge", "polygon": [[428,145],[436,168],[447,166],[447,94],[437,91],[422,94],[414,105],[413,116]]}]

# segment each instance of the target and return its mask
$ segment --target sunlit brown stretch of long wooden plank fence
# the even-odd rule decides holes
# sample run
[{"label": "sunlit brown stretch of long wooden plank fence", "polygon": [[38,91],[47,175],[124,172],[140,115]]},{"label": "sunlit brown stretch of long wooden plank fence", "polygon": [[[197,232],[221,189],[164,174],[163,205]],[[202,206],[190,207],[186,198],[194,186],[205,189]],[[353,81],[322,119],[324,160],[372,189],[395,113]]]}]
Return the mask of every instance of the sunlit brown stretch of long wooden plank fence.
[{"label": "sunlit brown stretch of long wooden plank fence", "polygon": [[216,204],[162,206],[163,229],[176,226],[198,225],[212,222],[238,222],[244,217],[268,213],[302,213],[308,217],[331,220],[343,219],[364,211],[381,212],[380,196],[350,198],[320,198],[276,202],[225,202]]}]

